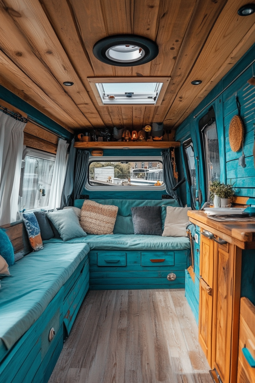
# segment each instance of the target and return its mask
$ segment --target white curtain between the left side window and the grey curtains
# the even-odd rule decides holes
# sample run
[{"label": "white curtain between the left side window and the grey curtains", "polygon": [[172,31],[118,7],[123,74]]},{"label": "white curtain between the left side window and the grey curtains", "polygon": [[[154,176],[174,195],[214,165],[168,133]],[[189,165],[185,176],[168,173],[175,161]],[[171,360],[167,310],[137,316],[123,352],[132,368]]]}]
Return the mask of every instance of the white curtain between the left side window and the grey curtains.
[{"label": "white curtain between the left side window and the grey curtains", "polygon": [[67,164],[67,148],[67,141],[60,138],[58,140],[57,155],[50,188],[49,209],[60,208],[61,205],[61,194],[65,181],[65,169]]}]

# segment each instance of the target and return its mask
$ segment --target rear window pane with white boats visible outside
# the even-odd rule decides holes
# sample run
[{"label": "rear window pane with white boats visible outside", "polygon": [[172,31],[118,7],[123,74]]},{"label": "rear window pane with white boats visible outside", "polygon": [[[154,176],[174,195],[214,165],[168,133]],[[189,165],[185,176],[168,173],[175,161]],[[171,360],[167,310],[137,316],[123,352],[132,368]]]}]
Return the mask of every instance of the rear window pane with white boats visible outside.
[{"label": "rear window pane with white boats visible outside", "polygon": [[92,161],[88,183],[98,187],[159,187],[163,185],[161,161]]}]

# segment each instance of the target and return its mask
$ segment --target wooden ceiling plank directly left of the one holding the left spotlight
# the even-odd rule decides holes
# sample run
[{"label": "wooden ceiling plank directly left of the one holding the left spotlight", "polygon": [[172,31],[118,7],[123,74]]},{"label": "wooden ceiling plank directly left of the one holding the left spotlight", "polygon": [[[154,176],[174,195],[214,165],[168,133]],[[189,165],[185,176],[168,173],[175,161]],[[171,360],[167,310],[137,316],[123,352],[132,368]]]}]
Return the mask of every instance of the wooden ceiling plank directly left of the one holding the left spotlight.
[{"label": "wooden ceiling plank directly left of the one holding the left spotlight", "polygon": [[[11,13],[11,11],[10,11]],[[12,12],[14,17],[17,13]],[[67,111],[76,121],[77,127],[91,126],[86,117],[81,113],[75,103],[63,92],[62,87],[55,80],[54,75],[36,56],[23,33],[15,25],[8,11],[0,6],[0,46],[5,54],[26,73],[29,78],[49,95],[50,98]]]}]

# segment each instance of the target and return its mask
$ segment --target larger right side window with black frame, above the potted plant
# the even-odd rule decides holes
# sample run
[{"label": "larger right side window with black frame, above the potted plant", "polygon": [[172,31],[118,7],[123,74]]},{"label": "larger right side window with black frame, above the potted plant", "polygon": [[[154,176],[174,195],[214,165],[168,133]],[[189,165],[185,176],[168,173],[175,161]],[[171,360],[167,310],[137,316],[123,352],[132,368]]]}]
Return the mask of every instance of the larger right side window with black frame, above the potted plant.
[{"label": "larger right side window with black frame, above the potted plant", "polygon": [[204,151],[207,201],[210,198],[210,182],[219,181],[221,168],[219,162],[219,142],[213,108],[199,121],[201,141]]}]

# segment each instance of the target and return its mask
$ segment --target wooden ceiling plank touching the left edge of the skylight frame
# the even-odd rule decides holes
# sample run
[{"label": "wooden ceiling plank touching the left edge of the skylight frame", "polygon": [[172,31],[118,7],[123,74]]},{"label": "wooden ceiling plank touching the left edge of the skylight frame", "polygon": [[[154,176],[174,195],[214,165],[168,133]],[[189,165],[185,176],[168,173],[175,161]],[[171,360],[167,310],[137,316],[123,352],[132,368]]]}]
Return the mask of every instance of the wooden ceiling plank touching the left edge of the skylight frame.
[{"label": "wooden ceiling plank touching the left edge of the skylight frame", "polygon": [[53,25],[59,41],[65,49],[76,73],[80,77],[103,124],[112,126],[112,120],[108,111],[105,108],[101,108],[101,110],[98,109],[96,98],[88,83],[87,77],[93,77],[94,71],[89,54],[81,38],[71,4],[63,0],[54,0],[54,2],[51,0],[40,1],[48,20]]}]

